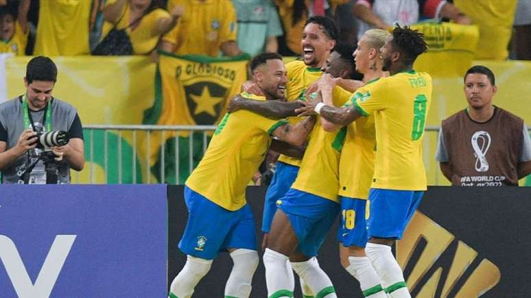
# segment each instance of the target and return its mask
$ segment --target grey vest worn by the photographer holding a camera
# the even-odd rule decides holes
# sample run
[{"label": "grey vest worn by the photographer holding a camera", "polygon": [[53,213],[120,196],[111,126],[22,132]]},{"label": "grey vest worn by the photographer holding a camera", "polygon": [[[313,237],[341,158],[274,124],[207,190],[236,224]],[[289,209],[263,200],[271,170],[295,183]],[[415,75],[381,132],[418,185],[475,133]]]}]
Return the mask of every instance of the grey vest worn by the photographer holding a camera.
[{"label": "grey vest worn by the photographer holding a camera", "polygon": [[[15,99],[0,104],[0,122],[2,123],[5,130],[8,132],[8,144],[7,148],[5,148],[6,151],[16,146],[16,142],[18,142],[19,137],[25,129],[32,129],[31,124],[29,125],[29,127],[24,127],[25,121],[22,99],[22,96],[16,97]],[[36,129],[40,129],[40,127],[42,127],[44,131],[47,130],[46,127],[50,127],[50,125],[47,125],[47,123],[49,123],[48,121],[51,121],[52,131],[64,130],[65,132],[68,132],[73,123],[73,120],[75,119],[77,110],[69,103],[65,103],[64,101],[60,101],[56,98],[51,99],[48,105],[50,104],[51,112],[49,113],[49,115],[51,117],[49,118],[51,119],[48,119],[48,117],[45,116],[46,114],[48,114],[46,112],[48,107],[46,107],[43,110],[39,111],[29,110],[29,113],[31,115],[31,117],[29,118],[29,122],[33,122],[34,127]],[[22,156],[17,158],[8,169],[2,171],[2,183],[21,183],[19,176],[24,173],[25,169],[27,169],[27,166],[29,166],[29,164],[32,164],[32,161],[37,158],[39,152],[39,149],[30,150],[29,156],[32,160],[30,160],[29,162],[27,160],[28,154],[23,154]],[[64,162],[63,160],[62,162],[58,162],[58,165],[58,184],[70,183],[69,164],[67,162]],[[30,175],[30,183],[41,183],[43,178],[46,179],[44,173],[44,164],[42,160],[39,160],[34,170],[32,171],[32,174]],[[36,179],[38,181],[35,181]]]}]

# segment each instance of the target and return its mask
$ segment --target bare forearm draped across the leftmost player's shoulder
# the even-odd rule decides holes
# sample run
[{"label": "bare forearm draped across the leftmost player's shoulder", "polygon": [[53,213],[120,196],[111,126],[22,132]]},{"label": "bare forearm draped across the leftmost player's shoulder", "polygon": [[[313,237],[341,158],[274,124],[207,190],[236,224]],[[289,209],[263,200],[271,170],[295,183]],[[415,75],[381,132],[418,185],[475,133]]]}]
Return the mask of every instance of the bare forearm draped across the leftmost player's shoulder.
[{"label": "bare forearm draped across the leftmost player's shoulder", "polygon": [[236,95],[228,104],[227,112],[236,112],[237,110],[248,110],[255,112],[268,118],[286,118],[289,116],[296,116],[295,109],[300,108],[300,103],[297,101],[281,101],[268,100],[259,101],[255,99],[248,99],[241,95]]}]

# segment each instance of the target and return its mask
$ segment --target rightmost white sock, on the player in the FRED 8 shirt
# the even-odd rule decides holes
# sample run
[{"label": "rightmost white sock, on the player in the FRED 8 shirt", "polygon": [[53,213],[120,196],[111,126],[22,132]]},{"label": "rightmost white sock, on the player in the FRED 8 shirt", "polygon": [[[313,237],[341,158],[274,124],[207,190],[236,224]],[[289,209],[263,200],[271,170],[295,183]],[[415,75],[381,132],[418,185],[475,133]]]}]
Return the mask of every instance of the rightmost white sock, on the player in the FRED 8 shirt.
[{"label": "rightmost white sock, on the player in the FRED 8 shirt", "polygon": [[402,269],[391,252],[388,245],[367,243],[365,247],[370,262],[378,273],[381,286],[392,298],[411,298],[410,292],[404,282]]}]

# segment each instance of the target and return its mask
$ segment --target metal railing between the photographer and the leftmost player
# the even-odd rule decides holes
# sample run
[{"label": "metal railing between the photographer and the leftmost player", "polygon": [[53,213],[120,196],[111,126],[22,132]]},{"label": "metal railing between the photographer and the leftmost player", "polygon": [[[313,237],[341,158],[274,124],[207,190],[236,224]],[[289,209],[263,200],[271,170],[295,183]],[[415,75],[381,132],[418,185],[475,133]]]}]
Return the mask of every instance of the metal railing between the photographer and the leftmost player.
[{"label": "metal railing between the photographer and the leftmost player", "polygon": [[[199,147],[202,156],[207,150],[209,135],[216,128],[215,125],[84,125],[88,166],[84,171],[88,171],[88,174],[74,173],[73,183],[182,183],[182,179],[179,179],[182,175],[182,140],[187,140],[187,173],[191,173],[198,162],[197,154],[194,157],[194,153]],[[173,140],[172,160],[167,158],[168,140]],[[196,142],[200,142],[200,145]],[[127,152],[124,146],[128,147]],[[99,156],[99,153],[103,156]],[[158,162],[158,173],[153,169],[155,161]],[[174,181],[166,177],[165,170],[169,163],[174,167]],[[111,164],[116,167],[115,171],[110,171]],[[97,168],[103,170],[103,177],[97,177]],[[145,178],[140,179],[139,173]],[[123,179],[124,174],[130,174],[130,179]],[[155,181],[153,175],[157,178]]]}]

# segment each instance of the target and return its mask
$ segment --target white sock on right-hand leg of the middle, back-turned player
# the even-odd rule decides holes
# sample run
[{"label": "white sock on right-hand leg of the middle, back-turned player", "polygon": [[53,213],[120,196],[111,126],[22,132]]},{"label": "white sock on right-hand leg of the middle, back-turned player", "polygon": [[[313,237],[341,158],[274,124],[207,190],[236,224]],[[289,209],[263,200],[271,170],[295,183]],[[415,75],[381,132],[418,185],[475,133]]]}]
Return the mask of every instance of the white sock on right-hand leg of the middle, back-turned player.
[{"label": "white sock on right-hand leg of the middle, back-turned player", "polygon": [[300,279],[307,283],[314,295],[323,298],[337,297],[330,278],[325,271],[322,271],[315,257],[305,262],[292,262],[292,267]]}]

